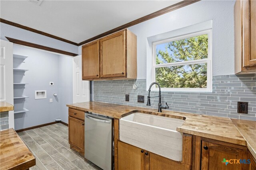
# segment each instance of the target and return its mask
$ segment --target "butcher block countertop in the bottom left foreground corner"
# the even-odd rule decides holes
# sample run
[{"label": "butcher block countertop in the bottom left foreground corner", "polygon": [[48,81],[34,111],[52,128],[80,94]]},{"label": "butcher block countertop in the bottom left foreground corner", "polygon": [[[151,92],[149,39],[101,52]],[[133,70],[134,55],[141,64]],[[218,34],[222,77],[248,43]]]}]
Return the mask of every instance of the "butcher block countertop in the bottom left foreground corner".
[{"label": "butcher block countertop in the bottom left foreground corner", "polygon": [[14,129],[0,131],[0,170],[26,170],[36,159]]}]

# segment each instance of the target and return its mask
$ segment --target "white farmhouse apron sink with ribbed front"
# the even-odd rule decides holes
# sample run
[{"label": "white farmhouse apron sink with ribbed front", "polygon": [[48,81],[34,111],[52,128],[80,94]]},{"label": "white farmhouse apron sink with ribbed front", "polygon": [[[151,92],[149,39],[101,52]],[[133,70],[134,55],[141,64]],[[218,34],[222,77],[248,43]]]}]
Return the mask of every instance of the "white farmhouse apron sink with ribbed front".
[{"label": "white farmhouse apron sink with ribbed front", "polygon": [[120,141],[182,161],[182,135],[176,131],[182,119],[145,113],[132,113],[119,119]]}]

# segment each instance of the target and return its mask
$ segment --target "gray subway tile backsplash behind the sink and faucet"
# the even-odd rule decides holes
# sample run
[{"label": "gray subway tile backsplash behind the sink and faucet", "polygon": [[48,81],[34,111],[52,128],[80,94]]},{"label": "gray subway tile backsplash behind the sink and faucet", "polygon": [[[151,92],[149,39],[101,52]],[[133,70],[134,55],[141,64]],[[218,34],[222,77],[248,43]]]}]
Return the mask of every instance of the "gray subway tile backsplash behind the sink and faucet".
[{"label": "gray subway tile backsplash behind the sink and faucet", "polygon": [[[158,108],[158,98],[152,98],[152,106],[146,106],[148,87],[146,79],[94,81],[94,101],[129,106]],[[168,103],[172,111],[197,113],[256,121],[256,74],[213,76],[212,92],[164,92],[162,103]],[[125,101],[125,94],[130,101]],[[143,95],[145,103],[137,103],[137,95]],[[150,92],[157,96],[158,91]],[[248,114],[237,113],[237,102],[248,102]]]}]

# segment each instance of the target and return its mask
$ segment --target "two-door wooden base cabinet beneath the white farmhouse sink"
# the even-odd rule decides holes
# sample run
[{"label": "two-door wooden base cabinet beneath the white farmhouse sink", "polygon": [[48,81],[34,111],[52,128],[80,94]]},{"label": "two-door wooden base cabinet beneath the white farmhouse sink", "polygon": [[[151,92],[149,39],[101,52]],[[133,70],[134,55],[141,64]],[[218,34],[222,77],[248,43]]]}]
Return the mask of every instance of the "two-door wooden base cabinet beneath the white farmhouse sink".
[{"label": "two-door wooden base cabinet beneath the white farmhouse sink", "polygon": [[118,170],[190,170],[190,165],[118,141]]}]

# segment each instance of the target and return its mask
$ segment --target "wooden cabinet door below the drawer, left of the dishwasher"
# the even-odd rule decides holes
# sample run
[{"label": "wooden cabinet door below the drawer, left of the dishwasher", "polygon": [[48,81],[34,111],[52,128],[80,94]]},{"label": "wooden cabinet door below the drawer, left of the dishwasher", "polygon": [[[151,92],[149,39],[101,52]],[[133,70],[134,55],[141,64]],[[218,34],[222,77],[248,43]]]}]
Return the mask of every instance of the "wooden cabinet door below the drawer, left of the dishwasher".
[{"label": "wooden cabinet door below the drawer, left of the dishwasher", "polygon": [[84,152],[84,121],[68,117],[68,141]]}]

